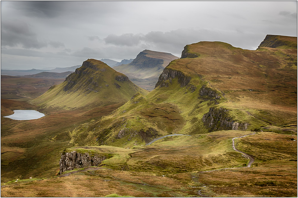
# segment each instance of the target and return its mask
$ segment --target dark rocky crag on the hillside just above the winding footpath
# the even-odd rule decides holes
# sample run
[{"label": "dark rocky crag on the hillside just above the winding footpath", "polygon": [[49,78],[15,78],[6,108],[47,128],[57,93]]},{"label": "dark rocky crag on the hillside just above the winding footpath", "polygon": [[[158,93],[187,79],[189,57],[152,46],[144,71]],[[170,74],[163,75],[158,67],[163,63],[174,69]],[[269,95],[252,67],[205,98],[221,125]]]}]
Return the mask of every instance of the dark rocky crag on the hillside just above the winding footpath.
[{"label": "dark rocky crag on the hillside just above the winding footpath", "polygon": [[220,130],[246,130],[248,123],[238,123],[228,114],[228,109],[211,107],[209,112],[203,115],[202,121],[209,132]]}]

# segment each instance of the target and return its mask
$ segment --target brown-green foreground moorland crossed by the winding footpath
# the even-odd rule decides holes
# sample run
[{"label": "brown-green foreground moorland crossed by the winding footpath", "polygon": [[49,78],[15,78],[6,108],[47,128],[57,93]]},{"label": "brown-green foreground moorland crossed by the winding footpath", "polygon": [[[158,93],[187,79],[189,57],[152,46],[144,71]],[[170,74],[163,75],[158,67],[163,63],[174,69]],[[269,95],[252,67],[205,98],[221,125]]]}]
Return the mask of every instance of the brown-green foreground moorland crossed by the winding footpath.
[{"label": "brown-green foreground moorland crossed by the winding footpath", "polygon": [[[66,151],[111,153],[114,157],[101,167],[66,171],[60,177],[1,183],[6,185],[1,197],[103,197],[112,193],[134,197],[296,196],[297,136],[256,132],[236,139],[236,148],[252,151],[248,153],[256,159],[248,168],[248,159],[232,149],[232,138],[245,134],[249,132],[173,136],[130,149],[69,148]],[[280,144],[287,149],[275,149]],[[181,160],[181,156],[189,159]],[[221,170],[224,167],[236,168]]]}]

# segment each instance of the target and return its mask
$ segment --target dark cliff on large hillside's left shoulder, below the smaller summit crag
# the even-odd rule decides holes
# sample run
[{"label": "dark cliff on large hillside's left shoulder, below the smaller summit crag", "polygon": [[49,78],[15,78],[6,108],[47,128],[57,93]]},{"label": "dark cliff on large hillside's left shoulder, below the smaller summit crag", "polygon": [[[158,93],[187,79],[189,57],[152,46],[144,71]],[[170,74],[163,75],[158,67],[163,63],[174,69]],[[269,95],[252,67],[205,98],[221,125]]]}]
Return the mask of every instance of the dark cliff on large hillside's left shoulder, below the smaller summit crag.
[{"label": "dark cliff on large hillside's left shoulder, below the smaller summit crag", "polygon": [[191,77],[190,76],[186,76],[183,74],[183,72],[174,70],[174,69],[168,69],[165,68],[164,71],[162,72],[162,74],[159,76],[158,78],[158,82],[155,85],[156,87],[168,87],[169,84],[167,82],[165,82],[166,80],[170,79],[170,82],[173,78],[178,78],[178,83],[180,83],[181,87],[186,86],[189,82]]}]

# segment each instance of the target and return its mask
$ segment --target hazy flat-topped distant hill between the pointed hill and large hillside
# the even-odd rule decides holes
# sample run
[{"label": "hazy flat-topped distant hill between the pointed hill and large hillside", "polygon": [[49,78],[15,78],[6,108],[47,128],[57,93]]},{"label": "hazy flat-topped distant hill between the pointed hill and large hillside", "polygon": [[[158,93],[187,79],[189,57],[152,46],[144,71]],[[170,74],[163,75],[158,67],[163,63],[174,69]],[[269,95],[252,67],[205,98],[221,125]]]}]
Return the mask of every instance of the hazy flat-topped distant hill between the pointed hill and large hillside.
[{"label": "hazy flat-topped distant hill between the pointed hill and large hillside", "polygon": [[116,66],[114,69],[127,75],[136,85],[153,90],[163,69],[178,58],[170,53],[144,50],[131,63]]}]

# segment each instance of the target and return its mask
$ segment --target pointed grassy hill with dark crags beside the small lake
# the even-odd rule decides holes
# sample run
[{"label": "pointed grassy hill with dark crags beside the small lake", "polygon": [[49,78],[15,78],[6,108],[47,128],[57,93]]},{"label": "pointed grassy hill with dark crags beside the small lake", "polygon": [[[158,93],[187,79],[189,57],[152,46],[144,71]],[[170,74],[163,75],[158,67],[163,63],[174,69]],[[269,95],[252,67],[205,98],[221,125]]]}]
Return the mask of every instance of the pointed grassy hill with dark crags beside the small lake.
[{"label": "pointed grassy hill with dark crags beside the small lake", "polygon": [[31,102],[46,107],[73,109],[126,102],[136,92],[148,93],[107,64],[88,59],[63,83],[51,87]]}]

